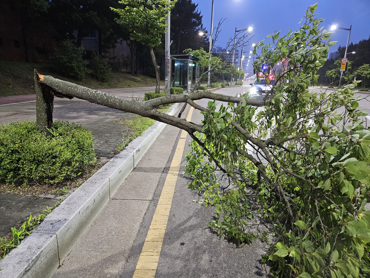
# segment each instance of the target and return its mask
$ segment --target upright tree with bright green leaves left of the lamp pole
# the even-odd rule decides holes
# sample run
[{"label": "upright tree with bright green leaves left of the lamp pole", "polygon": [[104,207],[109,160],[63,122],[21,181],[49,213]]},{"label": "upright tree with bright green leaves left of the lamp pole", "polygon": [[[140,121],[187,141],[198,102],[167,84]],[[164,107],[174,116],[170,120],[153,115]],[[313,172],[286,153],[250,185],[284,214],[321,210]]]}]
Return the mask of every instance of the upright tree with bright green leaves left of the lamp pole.
[{"label": "upright tree with bright green leaves left of the lamp pole", "polygon": [[161,35],[167,31],[165,20],[169,11],[174,7],[176,0],[122,0],[124,9],[111,9],[117,12],[120,18],[117,23],[123,24],[130,32],[130,39],[137,40],[150,47],[150,54],[155,68],[157,84],[155,92],[159,93],[159,66],[156,62],[153,47],[161,44]]}]

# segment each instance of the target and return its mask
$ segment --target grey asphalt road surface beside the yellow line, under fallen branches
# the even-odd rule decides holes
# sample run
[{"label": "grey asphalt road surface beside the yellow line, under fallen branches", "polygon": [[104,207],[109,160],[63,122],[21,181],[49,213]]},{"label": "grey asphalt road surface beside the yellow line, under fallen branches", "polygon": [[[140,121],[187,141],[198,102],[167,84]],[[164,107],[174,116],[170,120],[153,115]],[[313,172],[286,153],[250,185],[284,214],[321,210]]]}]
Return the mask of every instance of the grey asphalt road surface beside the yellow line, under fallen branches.
[{"label": "grey asphalt road surface beside the yellow line, under fallen branches", "polygon": [[[226,87],[219,93],[235,96],[247,89],[247,86]],[[197,101],[202,106],[207,102]],[[199,111],[194,111],[192,122],[200,123],[201,119]],[[256,241],[238,248],[223,236],[220,239],[208,227],[207,222],[214,215],[214,209],[205,209],[193,201],[201,196],[188,188],[190,176],[182,174],[186,164],[185,153],[190,151],[189,142],[190,137],[187,136],[155,277],[268,277],[260,264],[266,244]],[[171,158],[167,167],[170,163]],[[164,178],[161,178],[158,187],[161,188],[163,183]],[[154,198],[149,205],[127,263],[122,268],[121,278],[133,277],[157,202],[158,199]]]}]

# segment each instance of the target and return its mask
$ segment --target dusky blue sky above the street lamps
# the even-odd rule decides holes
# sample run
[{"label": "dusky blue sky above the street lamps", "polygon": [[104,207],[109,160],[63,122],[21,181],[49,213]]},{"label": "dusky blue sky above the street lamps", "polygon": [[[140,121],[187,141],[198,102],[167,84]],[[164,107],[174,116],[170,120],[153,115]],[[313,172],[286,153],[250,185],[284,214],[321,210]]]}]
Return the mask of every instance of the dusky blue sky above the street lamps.
[{"label": "dusky blue sky above the street lamps", "polygon": [[[198,9],[203,15],[203,25],[209,31],[212,0],[193,1],[198,3]],[[282,35],[289,29],[296,30],[302,24],[298,23],[305,15],[307,7],[315,3],[314,0],[215,0],[213,26],[217,26],[219,20],[226,17],[216,45],[224,47],[229,38],[234,36],[235,27],[238,30],[253,27],[255,37],[250,43],[266,39],[276,29]],[[318,17],[325,19],[322,25],[324,29],[330,30],[333,24],[343,28],[350,28],[352,25],[350,43],[368,39],[370,36],[370,0],[321,0],[316,12],[319,12]],[[348,31],[334,30],[332,41],[338,42],[330,47],[329,53],[335,52],[339,45],[345,46],[347,37]],[[270,39],[267,38],[266,41],[270,42]]]}]

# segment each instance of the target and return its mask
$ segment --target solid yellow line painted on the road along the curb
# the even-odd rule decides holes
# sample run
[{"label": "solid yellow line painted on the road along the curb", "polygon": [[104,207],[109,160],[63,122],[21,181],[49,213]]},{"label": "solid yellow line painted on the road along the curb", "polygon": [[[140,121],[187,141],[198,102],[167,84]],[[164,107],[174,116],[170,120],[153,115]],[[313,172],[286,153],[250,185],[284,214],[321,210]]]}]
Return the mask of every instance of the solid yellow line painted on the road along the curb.
[{"label": "solid yellow line painted on the road along the curb", "polygon": [[[191,120],[194,108],[191,106],[187,121]],[[175,185],[180,169],[182,153],[184,152],[187,132],[182,130],[179,142],[177,143],[174,158],[169,167],[166,180],[155,209],[152,222],[149,226],[144,246],[142,246],[140,257],[132,278],[154,278],[157,271],[159,255],[168,222],[169,210],[171,209],[172,198],[175,192]]]}]

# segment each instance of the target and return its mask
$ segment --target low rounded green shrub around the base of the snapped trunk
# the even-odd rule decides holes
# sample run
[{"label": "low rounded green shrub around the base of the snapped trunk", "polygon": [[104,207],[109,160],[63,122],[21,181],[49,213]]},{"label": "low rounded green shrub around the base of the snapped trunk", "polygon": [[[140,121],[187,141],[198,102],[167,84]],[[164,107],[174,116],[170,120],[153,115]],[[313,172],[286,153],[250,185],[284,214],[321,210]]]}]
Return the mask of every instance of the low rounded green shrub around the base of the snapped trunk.
[{"label": "low rounded green shrub around the base of the snapped trunk", "polygon": [[0,181],[57,183],[95,163],[92,134],[71,122],[54,122],[46,136],[36,122],[0,126]]}]

